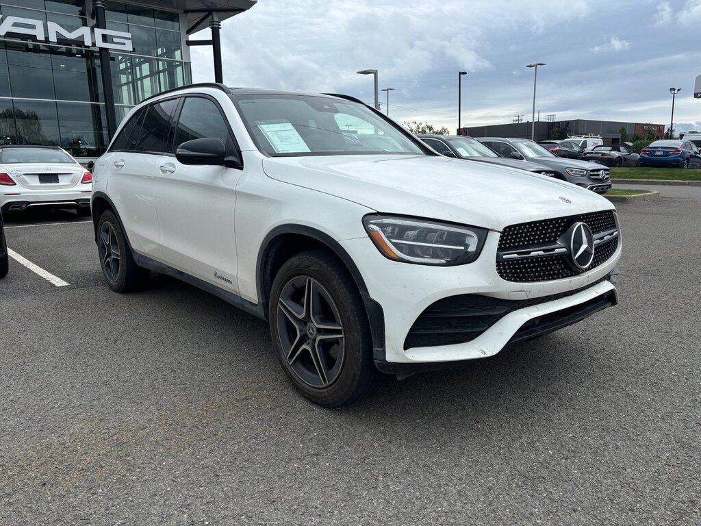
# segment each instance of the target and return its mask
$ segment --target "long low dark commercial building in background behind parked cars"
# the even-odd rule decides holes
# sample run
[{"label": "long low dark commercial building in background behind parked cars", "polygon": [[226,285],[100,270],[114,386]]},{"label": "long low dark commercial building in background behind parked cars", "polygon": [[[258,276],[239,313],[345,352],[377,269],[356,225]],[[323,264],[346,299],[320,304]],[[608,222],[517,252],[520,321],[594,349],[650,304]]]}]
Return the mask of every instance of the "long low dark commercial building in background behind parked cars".
[{"label": "long low dark commercial building in background behind parked cars", "polygon": [[[563,139],[572,135],[600,135],[604,144],[620,144],[621,128],[625,128],[628,140],[633,135],[646,136],[648,130],[655,133],[655,137],[661,139],[665,135],[664,124],[631,123],[616,121],[585,121],[576,119],[573,121],[540,121],[536,122],[534,138],[536,141],[548,139]],[[522,139],[531,138],[531,123],[520,122],[511,124],[495,124],[493,126],[472,126],[458,130],[458,135],[470,137],[514,137]]]}]

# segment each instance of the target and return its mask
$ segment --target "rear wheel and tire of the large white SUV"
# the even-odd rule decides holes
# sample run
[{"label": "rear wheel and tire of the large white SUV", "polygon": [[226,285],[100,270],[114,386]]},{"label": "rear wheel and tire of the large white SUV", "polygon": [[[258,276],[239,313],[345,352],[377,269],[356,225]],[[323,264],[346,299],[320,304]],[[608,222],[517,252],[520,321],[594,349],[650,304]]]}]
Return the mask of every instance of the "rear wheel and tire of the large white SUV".
[{"label": "rear wheel and tire of the large white SUV", "polygon": [[104,279],[114,292],[138,290],[149,278],[149,271],[134,261],[121,224],[110,210],[97,223],[97,252]]}]

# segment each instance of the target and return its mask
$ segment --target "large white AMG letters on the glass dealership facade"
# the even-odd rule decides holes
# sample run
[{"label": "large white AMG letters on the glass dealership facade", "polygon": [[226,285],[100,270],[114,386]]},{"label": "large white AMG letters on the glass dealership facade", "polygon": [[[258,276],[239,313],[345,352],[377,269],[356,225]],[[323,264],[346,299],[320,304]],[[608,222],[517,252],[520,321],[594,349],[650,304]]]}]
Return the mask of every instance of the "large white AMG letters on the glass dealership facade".
[{"label": "large white AMG letters on the glass dealership facade", "polygon": [[[79,27],[75,31],[63,29],[56,22],[46,22],[46,30],[42,20],[20,18],[18,16],[0,17],[0,36],[8,33],[32,36],[38,41],[57,42],[59,38],[67,40],[82,40],[86,46],[93,46],[93,32],[90,27]],[[132,51],[131,33],[113,31],[111,29],[94,29],[95,46],[98,48]],[[111,37],[111,39],[108,39]]]}]

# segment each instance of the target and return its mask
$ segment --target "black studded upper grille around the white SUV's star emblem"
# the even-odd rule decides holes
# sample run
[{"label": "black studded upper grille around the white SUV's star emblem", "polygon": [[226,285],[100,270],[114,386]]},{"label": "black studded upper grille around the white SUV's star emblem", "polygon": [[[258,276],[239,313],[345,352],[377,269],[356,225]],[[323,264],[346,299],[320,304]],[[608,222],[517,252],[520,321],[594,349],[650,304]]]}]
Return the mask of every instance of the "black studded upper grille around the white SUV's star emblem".
[{"label": "black studded upper grille around the white SUV's star emblem", "polygon": [[[618,229],[613,210],[514,224],[506,227],[501,233],[498,252],[502,254],[515,250],[528,251],[543,247],[561,247],[562,243],[559,243],[559,239],[576,222],[586,223],[592,230],[594,237],[601,232]],[[619,237],[615,236],[599,243],[594,248],[594,259],[586,270],[594,269],[612,257],[618,248],[618,239]],[[584,272],[584,270],[570,264],[570,259],[569,250],[565,253],[519,259],[501,259],[498,256],[496,271],[503,280],[518,283],[569,278]]]}]

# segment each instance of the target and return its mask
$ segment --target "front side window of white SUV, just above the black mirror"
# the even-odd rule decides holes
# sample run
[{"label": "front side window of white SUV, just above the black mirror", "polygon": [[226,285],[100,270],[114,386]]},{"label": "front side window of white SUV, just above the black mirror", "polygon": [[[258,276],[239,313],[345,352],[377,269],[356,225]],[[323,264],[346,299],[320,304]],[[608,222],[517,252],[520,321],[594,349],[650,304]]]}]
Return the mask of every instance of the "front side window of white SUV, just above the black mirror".
[{"label": "front side window of white SUV, just above the black mirror", "polygon": [[217,104],[203,97],[186,97],[175,128],[175,148],[183,142],[205,137],[217,137],[231,148],[229,128]]}]

